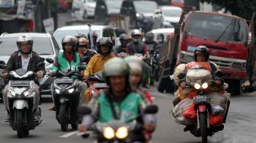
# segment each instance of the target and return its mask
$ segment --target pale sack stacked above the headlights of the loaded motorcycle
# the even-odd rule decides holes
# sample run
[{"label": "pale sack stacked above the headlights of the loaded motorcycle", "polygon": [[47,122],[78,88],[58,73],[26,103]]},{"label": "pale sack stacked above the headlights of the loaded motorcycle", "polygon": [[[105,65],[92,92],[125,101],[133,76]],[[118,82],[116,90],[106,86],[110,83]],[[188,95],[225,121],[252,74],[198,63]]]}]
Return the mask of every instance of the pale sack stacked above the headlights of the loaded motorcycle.
[{"label": "pale sack stacked above the headlights of the loaded motorcycle", "polygon": [[195,82],[201,80],[201,82],[210,81],[212,74],[206,69],[189,69],[187,70],[186,82]]}]

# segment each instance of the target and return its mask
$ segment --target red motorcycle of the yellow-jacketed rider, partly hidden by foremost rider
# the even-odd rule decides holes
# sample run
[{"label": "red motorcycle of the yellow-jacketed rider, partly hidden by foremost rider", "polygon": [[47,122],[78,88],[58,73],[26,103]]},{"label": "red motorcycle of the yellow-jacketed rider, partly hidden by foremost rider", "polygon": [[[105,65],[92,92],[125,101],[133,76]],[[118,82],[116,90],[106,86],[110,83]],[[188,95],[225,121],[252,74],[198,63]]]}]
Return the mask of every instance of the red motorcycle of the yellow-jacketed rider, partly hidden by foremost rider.
[{"label": "red motorcycle of the yellow-jacketed rider, partly hidden by foremost rider", "polygon": [[102,71],[89,75],[88,84],[90,97],[93,97],[95,94],[99,94],[101,89],[109,87],[105,79],[102,77]]}]

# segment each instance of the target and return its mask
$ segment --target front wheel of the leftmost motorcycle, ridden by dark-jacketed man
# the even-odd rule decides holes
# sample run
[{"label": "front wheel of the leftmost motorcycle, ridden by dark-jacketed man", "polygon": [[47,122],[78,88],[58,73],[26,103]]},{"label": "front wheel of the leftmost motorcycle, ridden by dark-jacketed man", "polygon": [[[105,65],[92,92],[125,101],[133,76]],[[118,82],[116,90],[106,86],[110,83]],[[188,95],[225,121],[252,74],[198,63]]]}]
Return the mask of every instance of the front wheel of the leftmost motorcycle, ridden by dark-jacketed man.
[{"label": "front wheel of the leftmost motorcycle, ridden by dark-jacketed man", "polygon": [[18,138],[24,137],[24,127],[23,127],[23,110],[16,110],[16,120],[17,120],[17,136]]}]

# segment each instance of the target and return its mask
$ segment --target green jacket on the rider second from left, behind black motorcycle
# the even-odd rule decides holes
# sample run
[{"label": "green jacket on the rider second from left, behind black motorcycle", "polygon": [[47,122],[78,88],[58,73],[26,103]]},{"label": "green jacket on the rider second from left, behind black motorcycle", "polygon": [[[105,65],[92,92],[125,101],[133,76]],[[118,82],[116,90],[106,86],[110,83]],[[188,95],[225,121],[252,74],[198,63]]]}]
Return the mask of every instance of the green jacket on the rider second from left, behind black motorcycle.
[{"label": "green jacket on the rider second from left, behind black motorcycle", "polygon": [[75,66],[80,65],[80,56],[75,52],[71,62],[66,57],[65,52],[60,52],[55,58],[53,63],[53,71],[62,71],[66,69],[71,69],[72,71],[78,71],[78,68],[75,69]]}]

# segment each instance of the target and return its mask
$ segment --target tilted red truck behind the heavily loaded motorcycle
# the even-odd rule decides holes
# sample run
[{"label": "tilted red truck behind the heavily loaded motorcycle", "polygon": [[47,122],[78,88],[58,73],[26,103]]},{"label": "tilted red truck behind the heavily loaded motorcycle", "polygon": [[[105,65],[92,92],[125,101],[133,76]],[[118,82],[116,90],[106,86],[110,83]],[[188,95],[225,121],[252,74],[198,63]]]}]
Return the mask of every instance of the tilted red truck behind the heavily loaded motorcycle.
[{"label": "tilted red truck behind the heavily loaded motorcycle", "polygon": [[248,61],[252,43],[248,43],[249,28],[245,19],[203,11],[190,11],[181,18],[180,30],[176,30],[176,37],[171,41],[176,44],[170,48],[178,49],[177,54],[170,57],[174,59],[171,61],[176,64],[191,62],[194,49],[200,45],[207,46],[210,61],[219,66],[222,78],[229,84],[229,92],[240,94],[242,83],[248,80],[254,65]]}]

